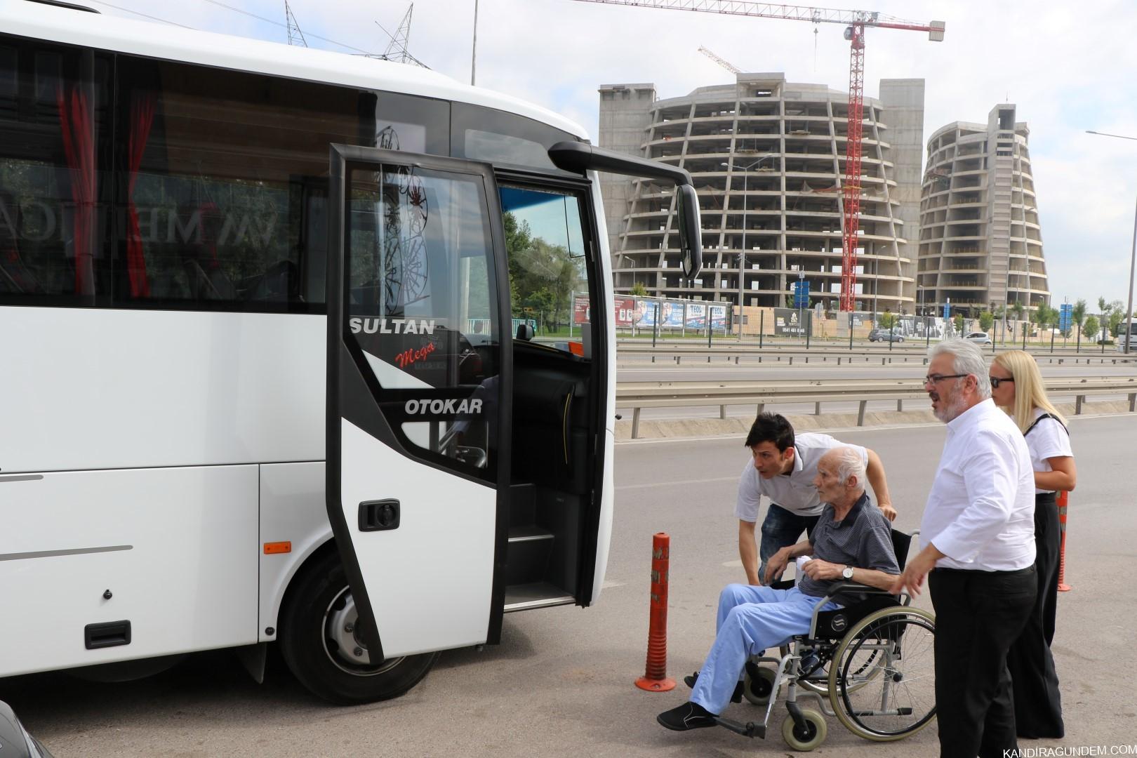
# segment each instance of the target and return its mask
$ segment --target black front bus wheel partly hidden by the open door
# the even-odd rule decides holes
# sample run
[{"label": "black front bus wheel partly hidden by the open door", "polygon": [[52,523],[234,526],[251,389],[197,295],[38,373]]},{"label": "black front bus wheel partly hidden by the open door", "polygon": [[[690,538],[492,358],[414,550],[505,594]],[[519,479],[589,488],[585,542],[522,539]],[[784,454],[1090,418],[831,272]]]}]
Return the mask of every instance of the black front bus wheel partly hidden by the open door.
[{"label": "black front bus wheel partly hidden by the open door", "polygon": [[356,636],[355,601],[334,551],[297,576],[280,626],[281,653],[292,674],[313,693],[342,706],[397,698],[438,659],[426,652],[372,663]]}]

